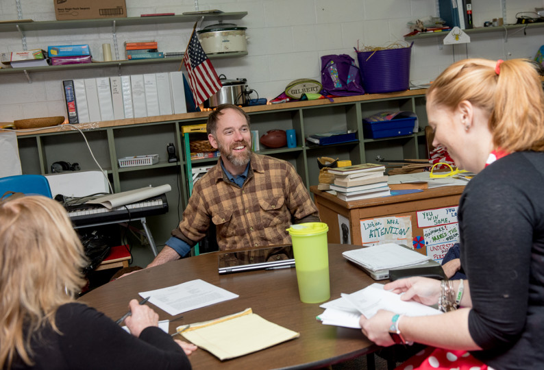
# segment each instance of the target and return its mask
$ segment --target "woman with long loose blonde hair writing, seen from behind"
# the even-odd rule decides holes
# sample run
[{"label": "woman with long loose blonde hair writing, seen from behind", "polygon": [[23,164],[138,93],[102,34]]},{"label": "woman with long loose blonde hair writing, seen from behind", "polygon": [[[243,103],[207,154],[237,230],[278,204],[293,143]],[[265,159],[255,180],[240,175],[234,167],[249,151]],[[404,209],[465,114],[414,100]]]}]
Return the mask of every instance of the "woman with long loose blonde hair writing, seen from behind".
[{"label": "woman with long loose blonde hair writing, seen from behind", "polygon": [[2,369],[190,369],[196,349],[158,328],[133,299],[125,324],[75,301],[85,284],[83,247],[58,202],[0,201]]}]

